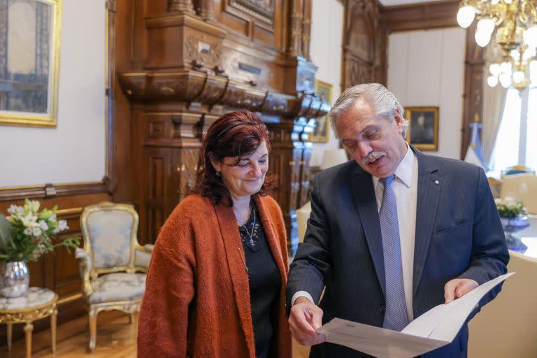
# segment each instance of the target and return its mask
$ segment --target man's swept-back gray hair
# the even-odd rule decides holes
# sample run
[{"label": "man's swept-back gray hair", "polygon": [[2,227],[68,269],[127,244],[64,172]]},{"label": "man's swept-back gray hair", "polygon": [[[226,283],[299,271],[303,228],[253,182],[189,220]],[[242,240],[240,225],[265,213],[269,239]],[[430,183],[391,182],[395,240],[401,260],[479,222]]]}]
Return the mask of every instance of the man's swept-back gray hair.
[{"label": "man's swept-back gray hair", "polygon": [[328,116],[330,118],[331,126],[334,128],[334,134],[336,138],[339,138],[339,134],[336,131],[336,121],[345,113],[348,113],[352,106],[355,106],[357,101],[366,101],[373,110],[375,115],[381,115],[387,119],[395,120],[395,110],[399,110],[401,117],[403,118],[403,138],[406,138],[406,131],[408,129],[408,120],[403,117],[403,106],[396,99],[396,96],[389,92],[386,87],[380,85],[380,83],[364,83],[363,85],[355,85],[349,87],[345,92],[341,94],[332,106]]}]

